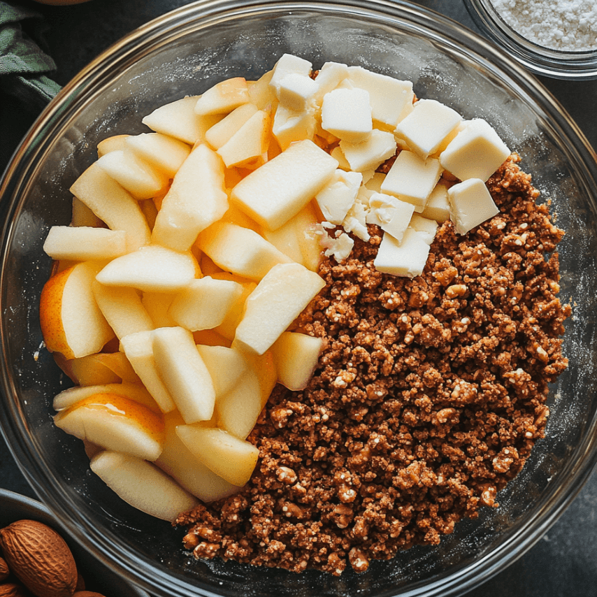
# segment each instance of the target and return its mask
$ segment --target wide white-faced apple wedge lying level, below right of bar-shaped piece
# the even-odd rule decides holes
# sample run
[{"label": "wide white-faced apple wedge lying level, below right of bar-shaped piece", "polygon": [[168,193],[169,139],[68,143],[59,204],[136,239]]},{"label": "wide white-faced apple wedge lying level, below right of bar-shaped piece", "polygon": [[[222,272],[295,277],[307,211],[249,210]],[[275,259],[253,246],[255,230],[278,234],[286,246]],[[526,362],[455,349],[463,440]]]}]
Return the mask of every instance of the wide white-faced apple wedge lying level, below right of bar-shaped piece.
[{"label": "wide white-faced apple wedge lying level, below right of bar-shaped piece", "polygon": [[110,261],[96,280],[106,286],[128,286],[144,292],[176,292],[194,280],[192,254],[148,245]]}]

